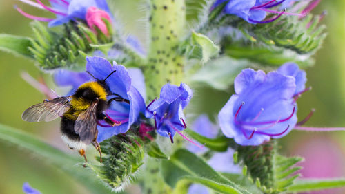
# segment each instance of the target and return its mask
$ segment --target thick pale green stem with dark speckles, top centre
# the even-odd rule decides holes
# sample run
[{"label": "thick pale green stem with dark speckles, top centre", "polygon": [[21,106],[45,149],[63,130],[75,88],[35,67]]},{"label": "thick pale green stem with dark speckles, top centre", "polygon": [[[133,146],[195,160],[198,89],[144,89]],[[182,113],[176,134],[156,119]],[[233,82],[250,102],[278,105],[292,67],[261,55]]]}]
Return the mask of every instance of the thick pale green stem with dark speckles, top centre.
[{"label": "thick pale green stem with dark speckles, top centre", "polygon": [[179,85],[184,76],[186,58],[179,43],[186,36],[184,0],[150,0],[150,49],[144,69],[148,100],[159,96],[166,83]]}]

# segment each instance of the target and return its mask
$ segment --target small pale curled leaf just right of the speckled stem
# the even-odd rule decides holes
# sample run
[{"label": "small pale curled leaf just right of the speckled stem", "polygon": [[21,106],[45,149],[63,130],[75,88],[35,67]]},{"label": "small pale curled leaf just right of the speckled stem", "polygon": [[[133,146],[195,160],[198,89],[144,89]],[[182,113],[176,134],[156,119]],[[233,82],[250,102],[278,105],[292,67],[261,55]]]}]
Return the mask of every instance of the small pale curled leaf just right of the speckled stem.
[{"label": "small pale curled leaf just right of the speckled stem", "polygon": [[206,63],[211,57],[217,55],[220,50],[219,46],[215,45],[207,36],[196,32],[192,32],[192,45],[201,47],[201,63]]}]

